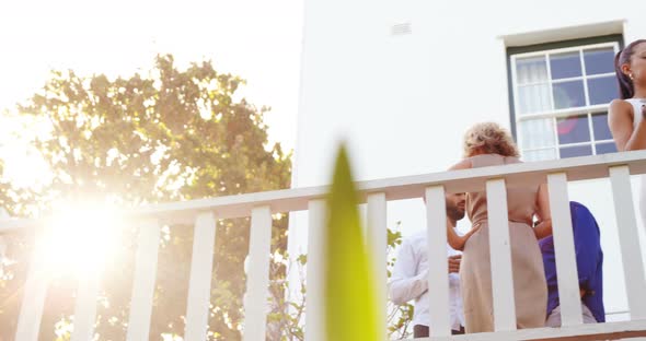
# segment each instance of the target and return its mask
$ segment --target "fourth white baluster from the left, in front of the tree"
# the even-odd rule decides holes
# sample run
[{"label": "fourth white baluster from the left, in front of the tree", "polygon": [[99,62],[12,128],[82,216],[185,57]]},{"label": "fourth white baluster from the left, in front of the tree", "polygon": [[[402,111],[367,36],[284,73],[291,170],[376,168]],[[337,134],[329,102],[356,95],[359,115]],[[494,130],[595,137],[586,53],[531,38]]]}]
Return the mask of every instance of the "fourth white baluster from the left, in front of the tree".
[{"label": "fourth white baluster from the left, in front of the tree", "polygon": [[207,340],[215,243],[216,216],[198,214],[193,235],[184,340]]}]

